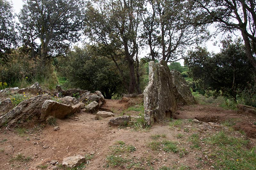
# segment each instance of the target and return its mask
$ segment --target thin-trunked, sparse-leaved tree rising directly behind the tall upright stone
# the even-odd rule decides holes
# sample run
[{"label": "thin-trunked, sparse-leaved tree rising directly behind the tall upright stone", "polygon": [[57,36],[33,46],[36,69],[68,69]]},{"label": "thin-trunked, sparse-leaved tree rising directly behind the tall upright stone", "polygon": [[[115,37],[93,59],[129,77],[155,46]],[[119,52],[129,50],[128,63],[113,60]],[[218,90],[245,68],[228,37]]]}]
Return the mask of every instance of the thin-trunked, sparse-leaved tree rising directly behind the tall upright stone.
[{"label": "thin-trunked, sparse-leaved tree rising directly behind the tall upright stone", "polygon": [[177,61],[183,58],[187,47],[207,37],[204,27],[193,26],[186,22],[190,20],[187,17],[190,10],[183,8],[185,2],[144,1],[144,8],[140,12],[143,22],[142,38],[149,45],[152,61],[159,58],[167,62]]}]

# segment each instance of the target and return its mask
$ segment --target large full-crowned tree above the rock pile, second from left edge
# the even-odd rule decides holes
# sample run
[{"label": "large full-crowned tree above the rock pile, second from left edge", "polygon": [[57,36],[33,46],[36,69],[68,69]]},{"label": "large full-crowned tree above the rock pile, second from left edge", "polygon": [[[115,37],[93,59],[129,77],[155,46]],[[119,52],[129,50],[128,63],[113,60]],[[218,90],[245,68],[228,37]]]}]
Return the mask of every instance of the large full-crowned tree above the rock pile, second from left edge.
[{"label": "large full-crowned tree above the rock pile, second from left edge", "polygon": [[[82,29],[82,1],[26,0],[19,14],[20,34],[35,57],[36,48],[45,65],[50,58],[63,55],[71,42],[79,39]],[[36,39],[40,44],[36,44]]]}]

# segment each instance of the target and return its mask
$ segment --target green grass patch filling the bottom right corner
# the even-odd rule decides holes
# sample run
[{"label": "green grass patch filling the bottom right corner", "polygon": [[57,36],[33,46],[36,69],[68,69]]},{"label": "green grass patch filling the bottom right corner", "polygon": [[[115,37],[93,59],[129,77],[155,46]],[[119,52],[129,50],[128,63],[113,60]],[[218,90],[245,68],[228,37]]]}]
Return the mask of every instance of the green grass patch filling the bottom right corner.
[{"label": "green grass patch filling the bottom right corner", "polygon": [[205,139],[212,148],[210,158],[215,169],[243,169],[249,170],[256,167],[255,146],[248,148],[249,141],[236,138],[220,131]]}]

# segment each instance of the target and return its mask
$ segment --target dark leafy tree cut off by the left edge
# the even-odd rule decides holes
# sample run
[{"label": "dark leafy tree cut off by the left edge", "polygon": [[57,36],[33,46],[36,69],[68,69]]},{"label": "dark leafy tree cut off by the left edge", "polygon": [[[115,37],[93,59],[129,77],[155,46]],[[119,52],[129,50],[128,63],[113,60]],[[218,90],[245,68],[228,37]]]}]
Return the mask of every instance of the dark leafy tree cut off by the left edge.
[{"label": "dark leafy tree cut off by the left edge", "polygon": [[5,54],[10,53],[16,42],[15,22],[12,5],[6,0],[0,0],[0,63],[7,60]]}]

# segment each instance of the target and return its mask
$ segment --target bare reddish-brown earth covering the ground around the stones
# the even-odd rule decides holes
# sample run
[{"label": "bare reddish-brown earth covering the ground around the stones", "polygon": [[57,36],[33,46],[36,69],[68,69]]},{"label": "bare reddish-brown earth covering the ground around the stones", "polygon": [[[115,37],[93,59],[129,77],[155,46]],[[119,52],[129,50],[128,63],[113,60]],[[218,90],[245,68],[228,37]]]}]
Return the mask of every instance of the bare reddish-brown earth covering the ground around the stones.
[{"label": "bare reddish-brown earth covering the ground around the stones", "polygon": [[[105,107],[112,109],[117,116],[124,111],[129,105],[141,103],[141,99],[134,99],[133,102],[127,104],[120,100],[107,100]],[[124,114],[128,114],[124,112]],[[130,113],[129,113],[130,114]],[[133,114],[135,114],[133,112]],[[78,118],[75,118],[78,117]],[[178,133],[189,135],[191,132],[185,132],[184,127],[198,131],[202,136],[211,134],[216,131],[225,130],[215,127],[208,127],[206,131],[202,131],[197,124],[185,121],[184,127],[170,128],[168,122],[156,123],[147,132],[135,131],[133,128],[113,128],[108,126],[108,120],[111,118],[95,120],[95,116],[86,112],[80,112],[72,115],[64,120],[58,120],[59,131],[53,131],[53,127],[49,125],[42,126],[30,122],[26,124],[28,129],[25,136],[19,136],[14,128],[10,131],[0,129],[0,169],[39,169],[36,166],[49,165],[51,160],[62,162],[63,158],[75,155],[85,155],[95,152],[94,158],[86,167],[89,170],[104,169],[127,169],[126,167],[110,167],[108,168],[106,157],[109,154],[109,147],[116,141],[123,141],[136,147],[136,151],[132,153],[135,160],[140,161],[141,167],[147,167],[147,161],[150,161],[152,167],[157,169],[163,165],[189,166],[191,169],[198,169],[200,163],[196,158],[204,159],[202,152],[189,148],[189,144],[180,143],[175,138]],[[251,138],[256,137],[256,115],[252,113],[244,113],[239,111],[223,110],[216,105],[192,105],[183,106],[173,115],[177,119],[198,119],[204,122],[220,123],[224,120],[234,120],[237,130],[244,130]],[[201,126],[202,127],[202,126]],[[151,135],[166,134],[166,139],[176,141],[188,151],[184,157],[180,158],[176,153],[165,153],[164,151],[152,151],[148,147],[148,143],[152,141]],[[240,133],[234,131],[234,135],[241,136]],[[6,141],[4,139],[7,139]],[[255,144],[255,139],[251,139]],[[47,148],[48,147],[48,148]],[[26,157],[31,157],[28,163],[10,160],[19,153]],[[202,164],[203,169],[212,169],[209,163]],[[201,163],[200,163],[201,164]],[[52,169],[52,166],[48,166]]]}]

